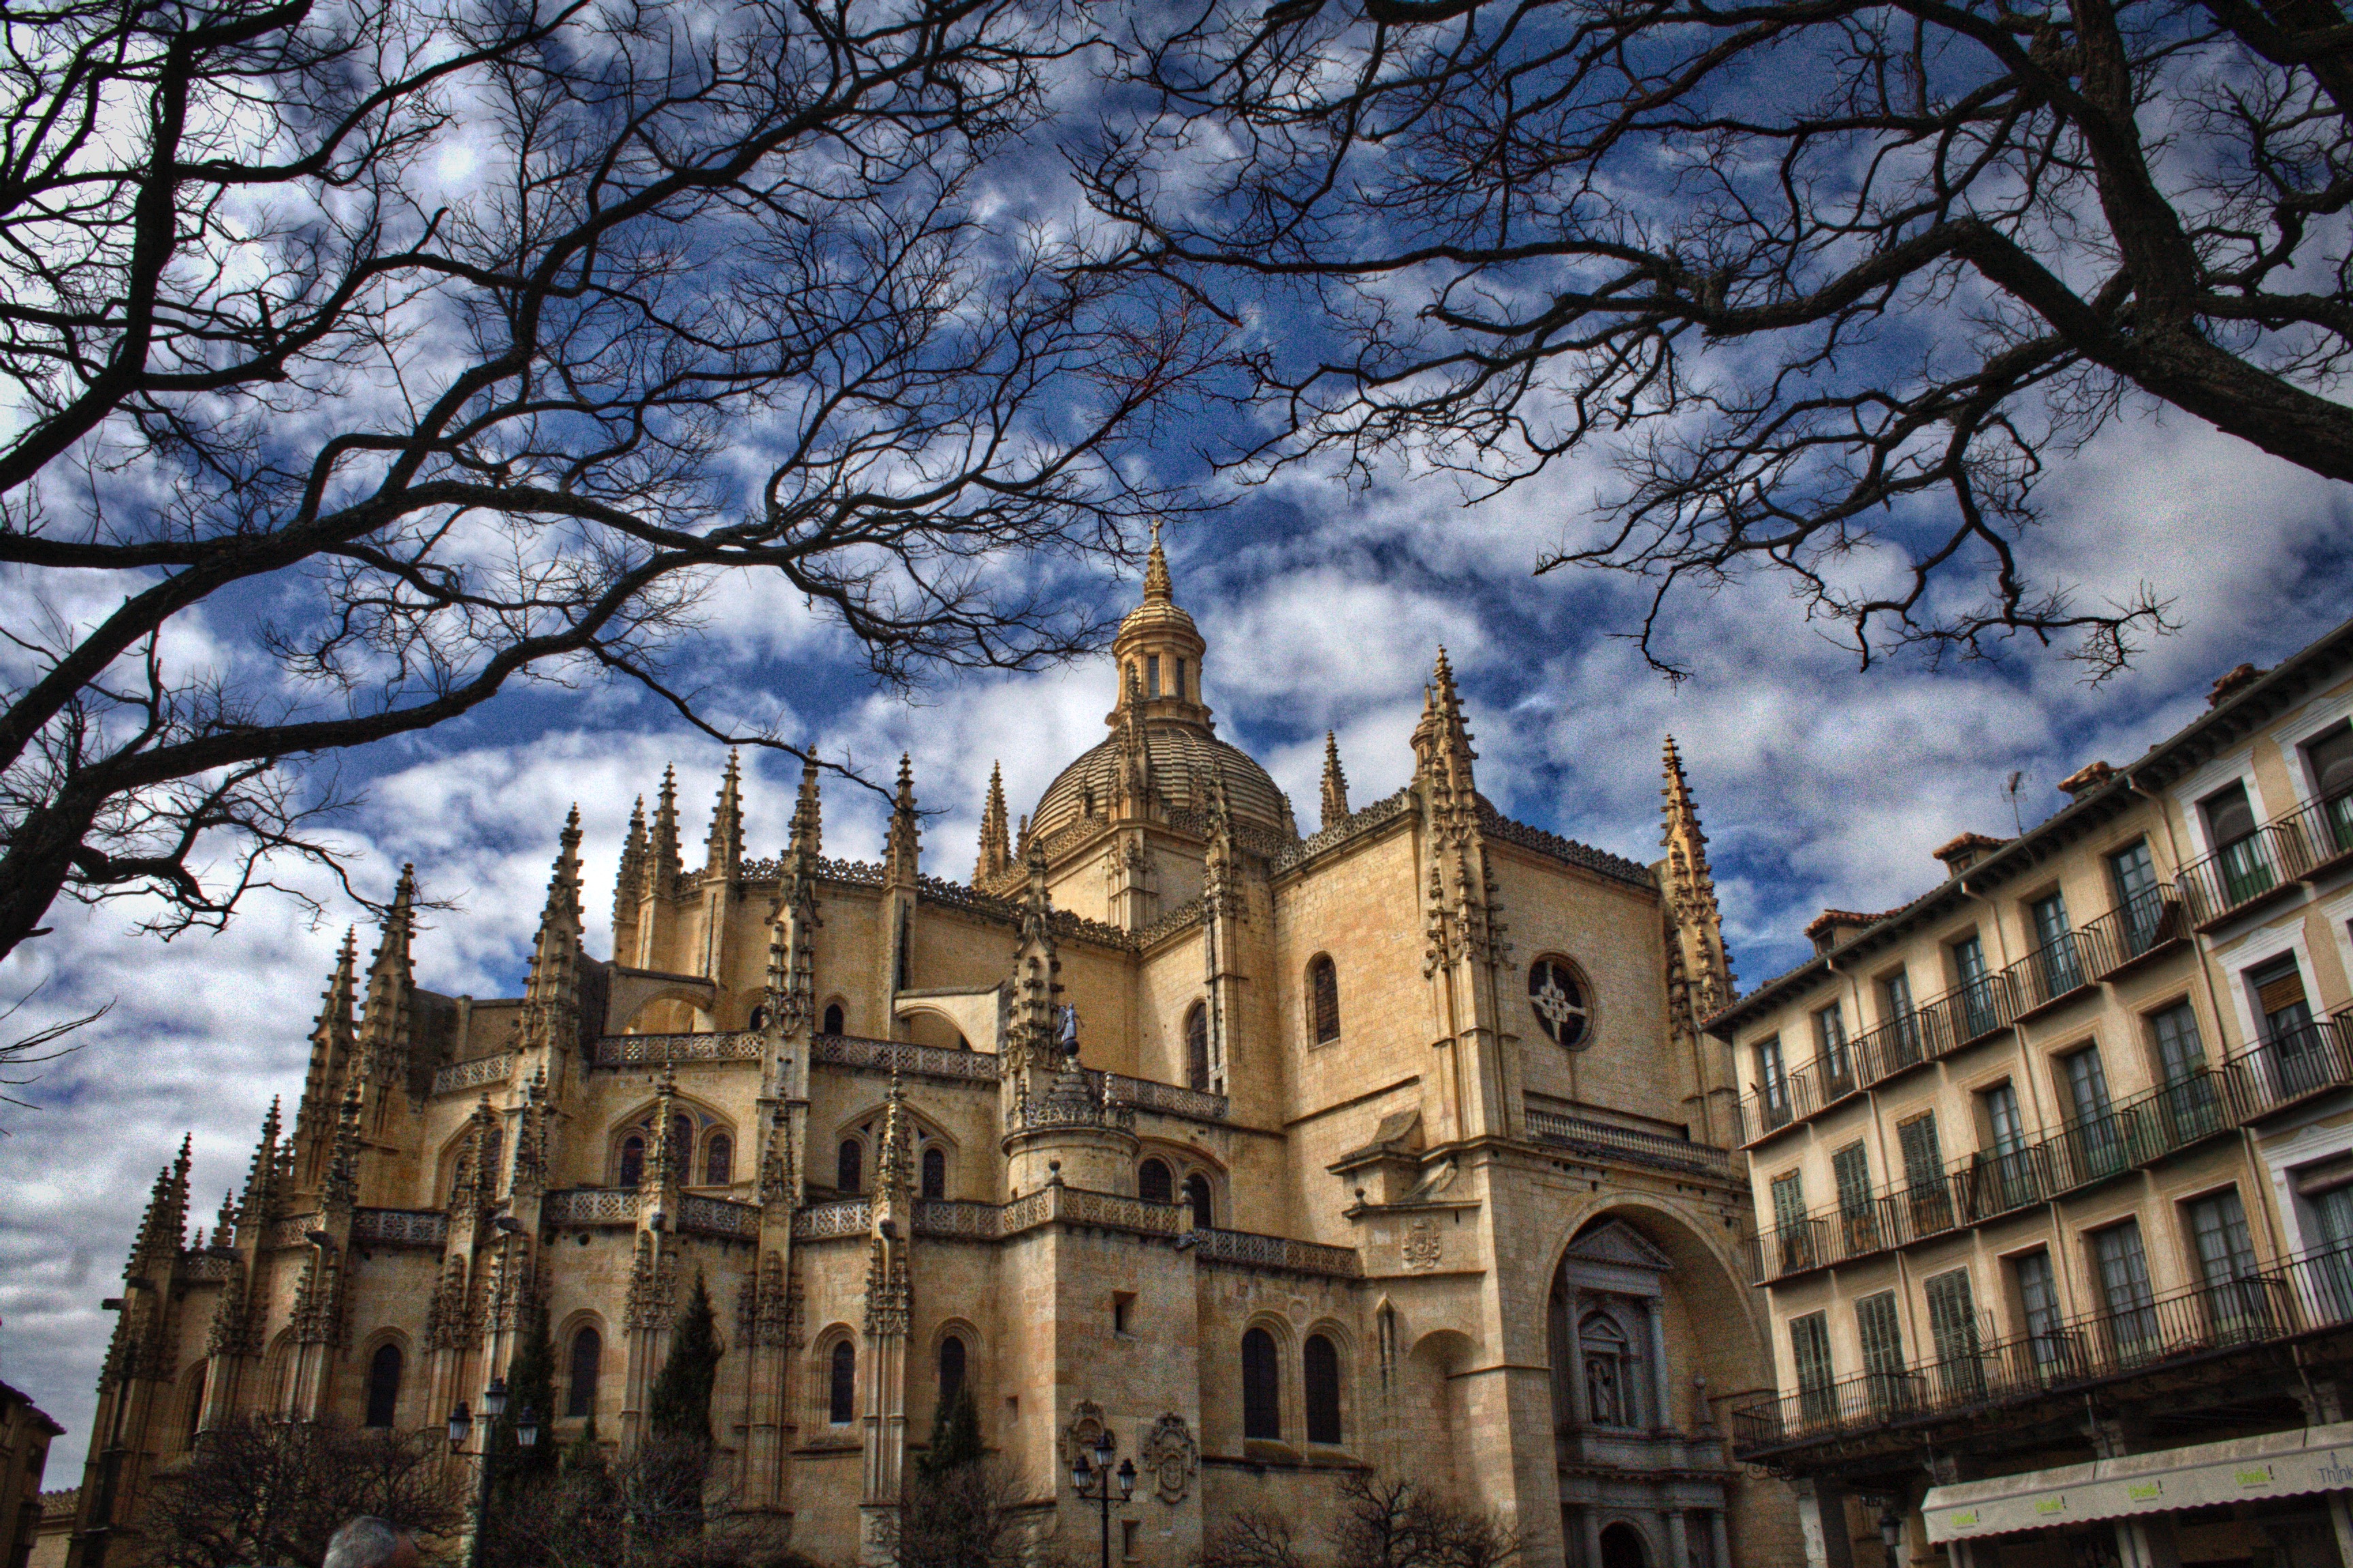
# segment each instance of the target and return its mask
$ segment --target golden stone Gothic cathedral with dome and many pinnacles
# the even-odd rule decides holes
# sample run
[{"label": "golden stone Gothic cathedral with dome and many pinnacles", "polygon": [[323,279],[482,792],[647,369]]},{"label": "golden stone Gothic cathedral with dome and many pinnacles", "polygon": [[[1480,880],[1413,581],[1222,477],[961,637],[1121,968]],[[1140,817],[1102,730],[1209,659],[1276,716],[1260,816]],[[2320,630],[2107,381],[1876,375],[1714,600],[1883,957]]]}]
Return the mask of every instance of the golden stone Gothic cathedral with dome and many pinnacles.
[{"label": "golden stone Gothic cathedral with dome and many pinnacles", "polygon": [[824,853],[814,766],[748,858],[729,762],[689,870],[666,776],[612,957],[574,813],[522,997],[478,999],[414,983],[402,875],[209,1234],[186,1150],[155,1182],[73,1563],[139,1561],[207,1427],[440,1429],[539,1314],[544,1441],[626,1453],[696,1279],[715,1486],[819,1561],[887,1554],[960,1387],[1073,1556],[1071,1460],[1108,1436],[1120,1563],[1193,1563],[1242,1509],[1313,1540],[1351,1474],[1492,1509],[1532,1566],[1795,1561],[1784,1483],[1725,1443],[1772,1371],[1673,743],[1654,865],[1515,823],[1440,651],[1412,783],[1353,806],[1327,743],[1301,835],[1207,656],[1155,543],[1111,733],[1019,825],[991,783],[969,882],[922,870],[904,762],[880,865]]}]

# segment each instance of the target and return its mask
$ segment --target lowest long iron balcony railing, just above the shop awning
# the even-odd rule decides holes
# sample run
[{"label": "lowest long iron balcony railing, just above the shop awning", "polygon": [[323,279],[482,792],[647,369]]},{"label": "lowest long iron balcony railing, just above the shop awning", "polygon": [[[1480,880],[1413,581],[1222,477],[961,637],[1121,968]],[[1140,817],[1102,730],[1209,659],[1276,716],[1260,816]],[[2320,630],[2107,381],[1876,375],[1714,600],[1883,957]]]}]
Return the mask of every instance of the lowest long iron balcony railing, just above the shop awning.
[{"label": "lowest long iron balcony railing, just above the shop awning", "polygon": [[2266,1272],[2144,1295],[1934,1361],[1760,1399],[1732,1413],[1734,1458],[1981,1415],[2049,1394],[2188,1366],[2353,1326],[2353,1246],[2285,1258]]}]

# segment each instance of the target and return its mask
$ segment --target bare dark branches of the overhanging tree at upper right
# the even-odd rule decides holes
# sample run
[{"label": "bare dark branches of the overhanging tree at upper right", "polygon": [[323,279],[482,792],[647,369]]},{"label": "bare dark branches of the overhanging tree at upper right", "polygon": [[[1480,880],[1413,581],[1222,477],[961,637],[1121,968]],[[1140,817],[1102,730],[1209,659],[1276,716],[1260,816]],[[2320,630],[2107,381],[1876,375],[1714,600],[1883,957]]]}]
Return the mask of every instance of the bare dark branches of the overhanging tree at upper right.
[{"label": "bare dark branches of the overhanging tree at upper right", "polygon": [[[1268,343],[1238,461],[1407,447],[1513,484],[1539,559],[1779,574],[1864,663],[2167,623],[2021,548],[2054,456],[2165,404],[2353,480],[2353,24],[2332,0],[1202,0],[1089,162],[1134,259]],[[1271,313],[1271,310],[1268,310]]]}]

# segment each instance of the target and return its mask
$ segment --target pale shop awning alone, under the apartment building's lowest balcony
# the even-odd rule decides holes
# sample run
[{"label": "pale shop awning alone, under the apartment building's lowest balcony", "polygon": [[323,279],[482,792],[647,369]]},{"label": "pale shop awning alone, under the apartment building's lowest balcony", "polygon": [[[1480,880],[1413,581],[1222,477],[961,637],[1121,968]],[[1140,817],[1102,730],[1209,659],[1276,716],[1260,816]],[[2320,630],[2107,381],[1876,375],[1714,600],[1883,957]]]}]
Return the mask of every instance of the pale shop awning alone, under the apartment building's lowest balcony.
[{"label": "pale shop awning alone, under the apartment building's lowest balcony", "polygon": [[1932,1486],[1932,1542],[2353,1488],[2353,1422]]}]

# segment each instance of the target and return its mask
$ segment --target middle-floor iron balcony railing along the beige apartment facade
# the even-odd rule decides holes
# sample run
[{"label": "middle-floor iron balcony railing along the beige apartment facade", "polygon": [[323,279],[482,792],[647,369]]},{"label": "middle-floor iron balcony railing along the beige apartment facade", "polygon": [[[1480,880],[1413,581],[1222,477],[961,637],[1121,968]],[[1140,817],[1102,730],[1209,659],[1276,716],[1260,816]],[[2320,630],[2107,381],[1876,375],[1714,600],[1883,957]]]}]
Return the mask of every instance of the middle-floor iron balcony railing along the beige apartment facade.
[{"label": "middle-floor iron balcony railing along the beige apartment facade", "polygon": [[1751,1239],[1751,1276],[1774,1284],[1984,1225],[2153,1164],[2233,1128],[2226,1074],[2200,1067],[2104,1112],[2059,1124],[2017,1150],[1955,1161],[1925,1182],[1892,1182]]}]

